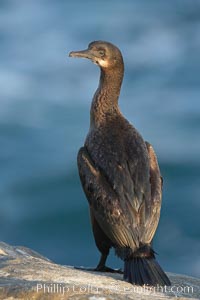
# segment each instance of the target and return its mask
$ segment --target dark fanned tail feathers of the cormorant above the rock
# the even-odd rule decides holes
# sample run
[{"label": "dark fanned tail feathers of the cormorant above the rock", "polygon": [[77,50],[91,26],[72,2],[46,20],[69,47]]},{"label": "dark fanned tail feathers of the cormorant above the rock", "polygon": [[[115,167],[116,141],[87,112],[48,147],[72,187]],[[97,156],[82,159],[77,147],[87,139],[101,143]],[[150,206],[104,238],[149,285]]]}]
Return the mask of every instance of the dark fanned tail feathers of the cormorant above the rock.
[{"label": "dark fanned tail feathers of the cormorant above the rock", "polygon": [[125,260],[124,279],[136,285],[171,285],[154,257],[133,257]]}]

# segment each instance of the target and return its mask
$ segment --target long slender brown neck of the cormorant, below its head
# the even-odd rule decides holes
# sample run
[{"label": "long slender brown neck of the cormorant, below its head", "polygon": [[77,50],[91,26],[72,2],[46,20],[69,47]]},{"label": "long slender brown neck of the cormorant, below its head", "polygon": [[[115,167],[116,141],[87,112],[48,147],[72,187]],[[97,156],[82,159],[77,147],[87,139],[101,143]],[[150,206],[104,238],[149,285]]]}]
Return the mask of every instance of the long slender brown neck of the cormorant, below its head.
[{"label": "long slender brown neck of the cormorant, below its head", "polygon": [[101,69],[100,81],[96,90],[91,110],[90,127],[98,127],[108,118],[119,114],[118,98],[124,75],[123,65],[116,70]]}]

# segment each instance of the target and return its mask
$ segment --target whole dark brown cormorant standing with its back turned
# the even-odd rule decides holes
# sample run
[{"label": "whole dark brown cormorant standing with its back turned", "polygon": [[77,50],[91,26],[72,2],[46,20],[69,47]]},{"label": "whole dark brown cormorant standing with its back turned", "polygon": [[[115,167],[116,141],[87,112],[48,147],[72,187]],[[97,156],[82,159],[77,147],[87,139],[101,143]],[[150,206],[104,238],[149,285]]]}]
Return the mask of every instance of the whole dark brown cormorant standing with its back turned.
[{"label": "whole dark brown cormorant standing with its back turned", "polygon": [[101,252],[95,270],[114,271],[105,266],[114,247],[124,260],[125,280],[138,285],[170,285],[152,248],[162,196],[156,154],[118,106],[124,75],[122,54],[111,43],[95,41],[69,56],[88,58],[101,70],[89,133],[78,153],[80,179]]}]

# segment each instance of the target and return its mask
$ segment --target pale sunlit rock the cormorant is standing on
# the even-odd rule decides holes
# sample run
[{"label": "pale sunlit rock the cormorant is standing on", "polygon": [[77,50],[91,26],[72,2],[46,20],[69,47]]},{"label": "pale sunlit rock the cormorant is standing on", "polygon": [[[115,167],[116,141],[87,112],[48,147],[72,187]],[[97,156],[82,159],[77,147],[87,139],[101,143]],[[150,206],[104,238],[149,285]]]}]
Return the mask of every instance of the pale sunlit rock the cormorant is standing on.
[{"label": "pale sunlit rock the cormorant is standing on", "polygon": [[139,287],[119,274],[57,265],[31,249],[0,242],[0,299],[200,299],[200,279],[168,275],[171,287]]}]

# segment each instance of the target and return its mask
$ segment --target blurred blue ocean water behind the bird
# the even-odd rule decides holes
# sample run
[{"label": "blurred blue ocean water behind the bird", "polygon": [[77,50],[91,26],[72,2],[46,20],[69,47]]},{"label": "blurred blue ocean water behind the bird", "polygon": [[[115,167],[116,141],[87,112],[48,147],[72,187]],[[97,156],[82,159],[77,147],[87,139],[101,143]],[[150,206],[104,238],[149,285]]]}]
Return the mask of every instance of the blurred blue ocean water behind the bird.
[{"label": "blurred blue ocean water behind the bird", "polygon": [[[200,2],[0,1],[0,239],[95,266],[76,166],[99,70],[68,58],[93,40],[125,62],[123,114],[164,178],[154,248],[165,270],[200,275]],[[122,262],[113,253],[109,264]]]}]

